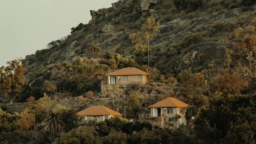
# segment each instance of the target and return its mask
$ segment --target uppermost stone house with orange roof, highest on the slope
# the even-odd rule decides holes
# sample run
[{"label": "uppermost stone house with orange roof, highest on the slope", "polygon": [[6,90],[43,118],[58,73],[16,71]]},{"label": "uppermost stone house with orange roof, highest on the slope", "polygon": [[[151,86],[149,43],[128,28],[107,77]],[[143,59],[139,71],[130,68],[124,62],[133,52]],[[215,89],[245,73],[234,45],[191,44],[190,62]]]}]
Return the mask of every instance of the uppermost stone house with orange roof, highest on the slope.
[{"label": "uppermost stone house with orange roof, highest on the slope", "polygon": [[146,72],[139,70],[135,67],[122,68],[107,74],[107,81],[101,82],[101,92],[107,90],[117,89],[119,86],[127,87],[132,85],[146,84],[148,83]]}]

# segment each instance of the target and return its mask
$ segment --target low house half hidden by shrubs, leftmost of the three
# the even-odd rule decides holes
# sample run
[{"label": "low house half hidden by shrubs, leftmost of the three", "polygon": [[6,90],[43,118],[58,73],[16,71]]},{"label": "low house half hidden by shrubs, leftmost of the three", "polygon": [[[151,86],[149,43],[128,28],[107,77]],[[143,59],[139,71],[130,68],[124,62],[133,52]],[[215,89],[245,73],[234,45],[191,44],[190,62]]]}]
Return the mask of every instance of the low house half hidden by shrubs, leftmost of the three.
[{"label": "low house half hidden by shrubs, leftmost of the three", "polygon": [[80,117],[80,119],[83,119],[84,122],[89,120],[100,122],[110,119],[111,117],[123,116],[122,114],[118,113],[118,109],[114,111],[104,106],[91,106],[78,112],[77,115]]}]

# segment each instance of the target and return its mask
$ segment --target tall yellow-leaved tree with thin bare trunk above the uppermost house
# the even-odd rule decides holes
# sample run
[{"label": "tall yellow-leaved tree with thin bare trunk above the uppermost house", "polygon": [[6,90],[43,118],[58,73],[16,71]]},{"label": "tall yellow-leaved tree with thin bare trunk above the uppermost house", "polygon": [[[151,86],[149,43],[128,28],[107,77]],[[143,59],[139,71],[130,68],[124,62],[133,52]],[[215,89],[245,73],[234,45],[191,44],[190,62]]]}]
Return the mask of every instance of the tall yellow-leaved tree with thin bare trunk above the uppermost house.
[{"label": "tall yellow-leaved tree with thin bare trunk above the uppermost house", "polygon": [[155,22],[155,18],[148,18],[146,22],[143,23],[141,27],[141,31],[137,32],[136,34],[130,35],[130,39],[132,43],[135,43],[135,47],[137,49],[143,49],[145,48],[145,45],[143,46],[141,44],[141,41],[147,42],[147,49],[148,49],[148,67],[149,67],[149,42],[154,38],[159,32],[159,22]]}]

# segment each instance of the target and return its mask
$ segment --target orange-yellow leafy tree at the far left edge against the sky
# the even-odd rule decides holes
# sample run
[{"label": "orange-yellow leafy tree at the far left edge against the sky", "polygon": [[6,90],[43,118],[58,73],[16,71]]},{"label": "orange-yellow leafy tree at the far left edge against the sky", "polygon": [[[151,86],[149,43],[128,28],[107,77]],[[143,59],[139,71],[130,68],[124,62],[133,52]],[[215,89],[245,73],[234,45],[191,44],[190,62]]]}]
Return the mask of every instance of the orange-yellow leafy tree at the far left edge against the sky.
[{"label": "orange-yellow leafy tree at the far left edge against the sky", "polygon": [[24,77],[23,60],[21,58],[8,61],[7,66],[0,68],[0,86],[9,99],[19,96],[20,90],[26,80]]}]

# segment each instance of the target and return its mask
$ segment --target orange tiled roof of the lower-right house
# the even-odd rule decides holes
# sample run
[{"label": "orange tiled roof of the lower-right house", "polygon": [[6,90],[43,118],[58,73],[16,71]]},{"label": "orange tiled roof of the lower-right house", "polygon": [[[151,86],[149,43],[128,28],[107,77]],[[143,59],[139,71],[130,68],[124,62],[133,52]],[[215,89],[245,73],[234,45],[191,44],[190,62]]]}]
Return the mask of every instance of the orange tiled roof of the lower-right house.
[{"label": "orange tiled roof of the lower-right house", "polygon": [[149,107],[188,107],[188,104],[185,104],[176,98],[166,98],[163,101],[159,101],[158,103]]}]

